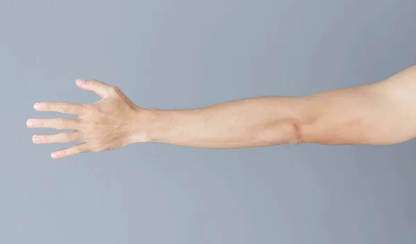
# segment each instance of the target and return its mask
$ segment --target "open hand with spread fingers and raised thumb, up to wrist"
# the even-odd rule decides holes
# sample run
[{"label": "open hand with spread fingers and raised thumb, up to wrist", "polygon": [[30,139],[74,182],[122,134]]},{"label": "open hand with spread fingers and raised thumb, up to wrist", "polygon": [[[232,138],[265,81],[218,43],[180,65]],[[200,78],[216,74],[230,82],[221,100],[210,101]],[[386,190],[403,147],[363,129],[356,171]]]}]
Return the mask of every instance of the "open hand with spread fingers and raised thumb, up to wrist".
[{"label": "open hand with spread fingers and raised thumb, up to wrist", "polygon": [[28,119],[28,128],[54,128],[74,130],[58,134],[35,134],[33,143],[67,143],[80,141],[75,146],[57,150],[51,157],[59,159],[83,152],[99,152],[128,146],[137,141],[146,141],[141,132],[142,115],[146,113],[120,91],[118,87],[98,80],[76,80],[81,89],[95,92],[101,100],[95,103],[35,103],[40,112],[76,114],[77,119]]}]

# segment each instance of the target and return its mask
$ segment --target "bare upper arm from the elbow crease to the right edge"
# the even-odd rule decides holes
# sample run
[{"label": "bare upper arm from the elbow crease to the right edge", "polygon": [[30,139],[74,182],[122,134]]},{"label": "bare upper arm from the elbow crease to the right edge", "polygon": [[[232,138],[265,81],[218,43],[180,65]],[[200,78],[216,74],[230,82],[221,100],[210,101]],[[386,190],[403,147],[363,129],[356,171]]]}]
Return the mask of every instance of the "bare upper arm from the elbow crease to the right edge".
[{"label": "bare upper arm from the elbow crease to the right edge", "polygon": [[306,142],[381,145],[416,137],[416,66],[382,82],[303,99]]}]

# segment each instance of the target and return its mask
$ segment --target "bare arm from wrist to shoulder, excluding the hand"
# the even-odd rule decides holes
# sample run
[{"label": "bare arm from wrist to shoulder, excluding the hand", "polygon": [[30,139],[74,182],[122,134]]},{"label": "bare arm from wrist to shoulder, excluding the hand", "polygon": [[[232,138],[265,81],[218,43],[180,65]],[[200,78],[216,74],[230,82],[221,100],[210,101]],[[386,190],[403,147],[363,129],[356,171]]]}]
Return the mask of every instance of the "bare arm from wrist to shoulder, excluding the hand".
[{"label": "bare arm from wrist to shoulder, excluding the hand", "polygon": [[153,114],[150,141],[181,146],[400,143],[416,137],[416,66],[374,84],[310,96],[248,98]]}]

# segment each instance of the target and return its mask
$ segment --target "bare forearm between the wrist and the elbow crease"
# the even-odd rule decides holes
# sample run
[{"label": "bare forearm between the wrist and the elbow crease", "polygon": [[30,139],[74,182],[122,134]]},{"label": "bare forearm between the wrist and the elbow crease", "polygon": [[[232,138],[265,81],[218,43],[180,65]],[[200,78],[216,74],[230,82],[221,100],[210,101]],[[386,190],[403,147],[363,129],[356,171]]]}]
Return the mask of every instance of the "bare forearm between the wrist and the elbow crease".
[{"label": "bare forearm between the wrist and the elbow crease", "polygon": [[300,101],[248,98],[193,110],[151,110],[149,141],[200,148],[299,143]]}]

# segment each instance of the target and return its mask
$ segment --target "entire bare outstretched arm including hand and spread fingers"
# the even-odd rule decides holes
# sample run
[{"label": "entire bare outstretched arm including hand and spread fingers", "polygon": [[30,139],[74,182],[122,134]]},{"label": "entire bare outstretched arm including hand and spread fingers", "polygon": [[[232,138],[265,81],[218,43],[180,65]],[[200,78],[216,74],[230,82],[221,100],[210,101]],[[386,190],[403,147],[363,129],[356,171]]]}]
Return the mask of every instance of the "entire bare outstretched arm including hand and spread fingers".
[{"label": "entire bare outstretched arm including hand and spread fingers", "polygon": [[96,103],[36,103],[40,112],[77,119],[28,119],[29,128],[72,129],[33,136],[34,143],[82,143],[51,154],[83,152],[159,142],[198,148],[248,148],[279,144],[388,145],[416,137],[416,66],[371,85],[304,97],[248,98],[193,110],[149,110],[117,87],[76,80],[101,96]]}]

